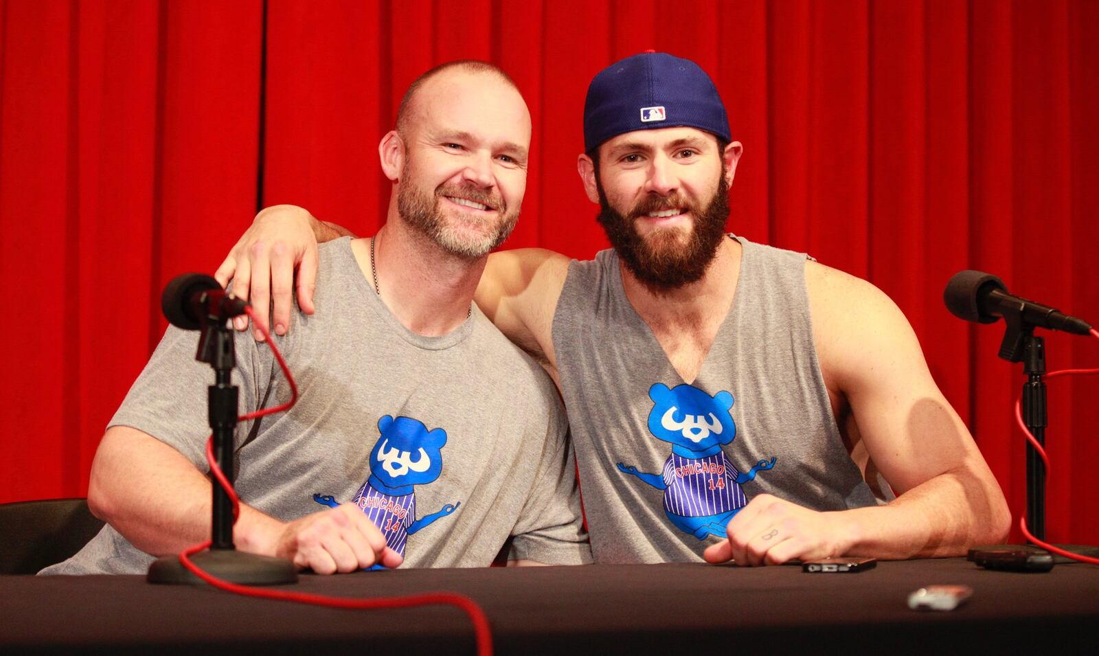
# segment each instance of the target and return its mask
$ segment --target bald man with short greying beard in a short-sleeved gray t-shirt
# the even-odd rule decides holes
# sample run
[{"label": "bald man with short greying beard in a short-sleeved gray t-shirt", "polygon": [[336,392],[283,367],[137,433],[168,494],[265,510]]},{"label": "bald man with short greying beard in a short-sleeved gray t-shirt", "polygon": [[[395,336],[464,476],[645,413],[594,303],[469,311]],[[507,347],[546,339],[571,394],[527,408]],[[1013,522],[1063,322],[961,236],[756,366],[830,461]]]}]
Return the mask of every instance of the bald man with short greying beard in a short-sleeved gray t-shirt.
[{"label": "bald man with short greying beard in a short-sleeved gray t-shirt", "polygon": [[[567,422],[553,383],[474,305],[526,185],[531,119],[495,66],[424,74],[378,146],[384,226],[322,246],[314,316],[276,337],[301,397],[236,434],[237,548],[320,574],[584,564]],[[138,574],[210,531],[193,333],[169,327],[96,453],[108,525],[44,574]],[[241,412],[287,401],[270,349],[236,338]]]}]

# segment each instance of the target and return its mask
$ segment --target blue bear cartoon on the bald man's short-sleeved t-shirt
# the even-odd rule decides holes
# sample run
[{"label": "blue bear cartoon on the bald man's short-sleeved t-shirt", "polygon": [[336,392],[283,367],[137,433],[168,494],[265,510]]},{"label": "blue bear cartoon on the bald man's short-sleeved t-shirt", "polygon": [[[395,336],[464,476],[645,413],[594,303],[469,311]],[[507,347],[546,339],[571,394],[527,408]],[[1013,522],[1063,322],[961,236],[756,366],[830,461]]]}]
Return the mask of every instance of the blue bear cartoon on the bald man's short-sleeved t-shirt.
[{"label": "blue bear cartoon on the bald man's short-sleeved t-shirt", "polygon": [[[413,488],[434,481],[443,472],[446,431],[429,431],[418,420],[388,414],[378,420],[378,431],[381,435],[370,452],[370,476],[358,489],[354,503],[381,530],[389,548],[403,557],[409,535],[451,514],[462,502],[447,503],[437,512],[415,519]],[[313,500],[333,508],[340,504],[331,494],[313,494]]]}]

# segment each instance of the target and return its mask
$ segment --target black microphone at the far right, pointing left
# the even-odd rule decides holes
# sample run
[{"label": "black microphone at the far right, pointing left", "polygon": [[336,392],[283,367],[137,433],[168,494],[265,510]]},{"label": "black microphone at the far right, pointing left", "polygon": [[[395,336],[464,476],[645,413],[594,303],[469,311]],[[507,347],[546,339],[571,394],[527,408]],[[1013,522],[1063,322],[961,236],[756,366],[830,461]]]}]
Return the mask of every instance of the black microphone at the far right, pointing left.
[{"label": "black microphone at the far right, pointing left", "polygon": [[[1024,325],[1087,335],[1091,326],[1055,308],[1008,293],[1003,281],[984,271],[954,274],[943,291],[946,309],[958,319],[995,323],[1001,316],[1018,316]],[[1008,322],[1011,324],[1011,321]]]}]

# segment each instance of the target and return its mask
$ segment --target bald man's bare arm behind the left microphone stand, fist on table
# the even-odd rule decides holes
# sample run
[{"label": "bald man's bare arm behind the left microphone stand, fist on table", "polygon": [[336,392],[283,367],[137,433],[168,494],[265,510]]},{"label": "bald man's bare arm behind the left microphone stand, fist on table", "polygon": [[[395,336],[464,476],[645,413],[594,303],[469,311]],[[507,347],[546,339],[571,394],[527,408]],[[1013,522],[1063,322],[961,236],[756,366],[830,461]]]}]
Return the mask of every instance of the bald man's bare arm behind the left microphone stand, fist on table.
[{"label": "bald man's bare arm behind the left microphone stand, fist on table", "polygon": [[[112,426],[103,435],[92,463],[88,505],[155,556],[210,537],[209,479],[173,447],[127,426]],[[351,504],[282,522],[242,503],[234,542],[241,551],[288,558],[319,574],[401,563],[377,526]]]}]

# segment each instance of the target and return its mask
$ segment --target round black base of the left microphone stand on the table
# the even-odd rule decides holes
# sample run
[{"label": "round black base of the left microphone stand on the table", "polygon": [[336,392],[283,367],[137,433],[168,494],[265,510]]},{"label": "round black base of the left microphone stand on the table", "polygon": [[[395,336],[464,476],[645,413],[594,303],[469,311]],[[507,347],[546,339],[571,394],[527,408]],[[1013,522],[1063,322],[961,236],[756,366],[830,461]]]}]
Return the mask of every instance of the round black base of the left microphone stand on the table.
[{"label": "round black base of the left microphone stand on the table", "polygon": [[[285,558],[246,554],[236,549],[199,552],[190,557],[206,572],[242,586],[281,586],[298,582],[298,570]],[[151,583],[206,585],[179,562],[179,555],[157,558],[148,566]]]}]

